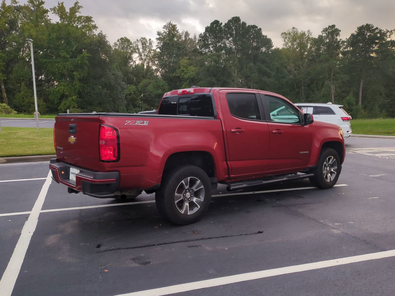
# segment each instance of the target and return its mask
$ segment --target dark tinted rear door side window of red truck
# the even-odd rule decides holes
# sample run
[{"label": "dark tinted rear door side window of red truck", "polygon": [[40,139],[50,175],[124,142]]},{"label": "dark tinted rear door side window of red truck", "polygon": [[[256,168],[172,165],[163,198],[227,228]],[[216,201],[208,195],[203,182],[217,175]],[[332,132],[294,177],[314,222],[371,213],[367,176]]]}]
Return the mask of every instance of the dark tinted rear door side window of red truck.
[{"label": "dark tinted rear door side window of red truck", "polygon": [[255,94],[226,94],[230,114],[236,117],[260,120],[258,101]]}]

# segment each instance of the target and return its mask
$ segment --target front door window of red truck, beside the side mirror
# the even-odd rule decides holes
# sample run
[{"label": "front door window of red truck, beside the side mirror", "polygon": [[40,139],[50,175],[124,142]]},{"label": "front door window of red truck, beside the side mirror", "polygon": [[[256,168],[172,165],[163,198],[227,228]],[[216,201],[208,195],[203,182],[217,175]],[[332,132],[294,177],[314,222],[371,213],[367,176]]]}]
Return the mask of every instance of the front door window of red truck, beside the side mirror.
[{"label": "front door window of red truck, beside the side mirror", "polygon": [[265,96],[269,107],[270,119],[275,122],[302,123],[300,112],[287,101],[278,97]]}]

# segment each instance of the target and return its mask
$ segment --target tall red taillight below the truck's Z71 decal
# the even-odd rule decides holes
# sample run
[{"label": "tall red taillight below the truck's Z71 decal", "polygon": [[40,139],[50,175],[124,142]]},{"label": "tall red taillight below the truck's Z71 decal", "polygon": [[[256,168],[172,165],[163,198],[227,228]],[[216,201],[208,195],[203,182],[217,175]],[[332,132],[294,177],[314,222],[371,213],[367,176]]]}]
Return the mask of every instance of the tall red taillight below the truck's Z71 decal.
[{"label": "tall red taillight below the truck's Z71 decal", "polygon": [[116,161],[119,158],[117,130],[109,126],[100,126],[99,150],[101,161]]}]

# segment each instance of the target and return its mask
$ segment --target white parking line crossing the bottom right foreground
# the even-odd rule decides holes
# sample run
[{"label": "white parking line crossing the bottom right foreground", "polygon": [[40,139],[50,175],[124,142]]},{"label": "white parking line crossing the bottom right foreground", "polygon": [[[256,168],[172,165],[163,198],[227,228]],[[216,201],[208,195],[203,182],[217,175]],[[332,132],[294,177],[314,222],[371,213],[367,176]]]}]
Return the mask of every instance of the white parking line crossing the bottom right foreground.
[{"label": "white parking line crossing the bottom right foreground", "polygon": [[210,287],[217,287],[222,285],[228,285],[233,283],[239,283],[243,281],[251,281],[253,279],[263,279],[265,277],[272,277],[275,275],[282,275],[282,274],[293,274],[295,272],[303,272],[307,270],[316,270],[320,268],[327,268],[331,266],[339,266],[344,264],[350,264],[355,262],[362,262],[367,260],[375,260],[375,259],[382,259],[388,257],[394,257],[395,250],[378,252],[378,253],[370,253],[365,255],[358,255],[352,257],[344,257],[339,259],[333,260],[326,260],[320,262],[313,262],[307,264],[300,264],[300,265],[293,265],[288,267],[282,268],[274,268],[269,270],[261,270],[258,272],[248,272],[246,274],[236,274],[230,275],[226,277],[217,277],[215,279],[207,279],[204,281],[196,281],[192,283],[185,283],[181,285],[174,285],[168,286],[158,289],[151,289],[133,293],[126,293],[126,294],[119,294],[117,296],[137,296],[137,295],[144,295],[144,296],[162,296],[167,294],[174,294],[180,292],[187,292],[192,290],[198,290],[202,288],[210,288]]}]

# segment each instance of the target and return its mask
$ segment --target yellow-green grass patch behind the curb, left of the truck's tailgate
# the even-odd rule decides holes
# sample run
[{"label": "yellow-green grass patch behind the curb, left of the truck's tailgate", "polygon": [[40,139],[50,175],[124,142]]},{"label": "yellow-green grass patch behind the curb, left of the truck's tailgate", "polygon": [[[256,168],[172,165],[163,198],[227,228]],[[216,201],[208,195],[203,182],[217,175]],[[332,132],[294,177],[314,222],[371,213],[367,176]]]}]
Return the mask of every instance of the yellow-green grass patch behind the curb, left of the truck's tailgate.
[{"label": "yellow-green grass patch behind the curb, left of the truck's tailgate", "polygon": [[0,131],[0,157],[51,154],[55,154],[53,129],[2,127]]}]

